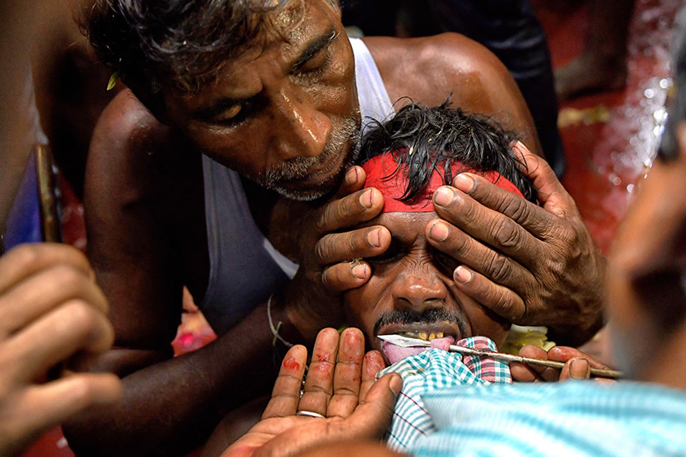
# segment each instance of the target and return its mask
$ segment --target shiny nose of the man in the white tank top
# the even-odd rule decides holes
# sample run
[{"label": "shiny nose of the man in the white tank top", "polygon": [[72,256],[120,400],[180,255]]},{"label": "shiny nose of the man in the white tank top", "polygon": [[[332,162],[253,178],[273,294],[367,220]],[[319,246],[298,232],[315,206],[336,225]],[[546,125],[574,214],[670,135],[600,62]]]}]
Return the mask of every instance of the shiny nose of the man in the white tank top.
[{"label": "shiny nose of the man in the white tank top", "polygon": [[298,88],[282,89],[275,98],[274,128],[281,158],[318,156],[331,134],[329,116]]}]

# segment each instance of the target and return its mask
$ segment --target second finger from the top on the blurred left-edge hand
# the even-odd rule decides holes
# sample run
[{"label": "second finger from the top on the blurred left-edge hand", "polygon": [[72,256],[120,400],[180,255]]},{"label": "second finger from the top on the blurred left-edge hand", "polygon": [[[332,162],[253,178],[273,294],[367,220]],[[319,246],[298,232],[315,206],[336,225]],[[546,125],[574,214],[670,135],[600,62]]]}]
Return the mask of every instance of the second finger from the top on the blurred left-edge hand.
[{"label": "second finger from the top on the blurred left-edge hand", "polygon": [[71,299],[80,299],[100,312],[108,311],[105,295],[91,278],[72,264],[45,267],[0,297],[0,338]]}]

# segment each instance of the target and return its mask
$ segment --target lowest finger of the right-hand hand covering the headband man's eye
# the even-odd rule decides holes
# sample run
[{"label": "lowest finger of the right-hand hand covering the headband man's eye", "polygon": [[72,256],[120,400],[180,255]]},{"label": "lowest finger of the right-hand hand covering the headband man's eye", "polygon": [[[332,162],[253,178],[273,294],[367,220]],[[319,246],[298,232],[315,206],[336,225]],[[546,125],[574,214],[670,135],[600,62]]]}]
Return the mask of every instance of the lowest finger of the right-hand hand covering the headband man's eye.
[{"label": "lowest finger of the right-hand hand covering the headband man's eye", "polygon": [[[496,284],[488,277],[460,265],[453,272],[453,281],[460,291],[477,303],[518,325],[527,325],[525,301],[512,289]],[[523,282],[519,284],[522,286]]]}]

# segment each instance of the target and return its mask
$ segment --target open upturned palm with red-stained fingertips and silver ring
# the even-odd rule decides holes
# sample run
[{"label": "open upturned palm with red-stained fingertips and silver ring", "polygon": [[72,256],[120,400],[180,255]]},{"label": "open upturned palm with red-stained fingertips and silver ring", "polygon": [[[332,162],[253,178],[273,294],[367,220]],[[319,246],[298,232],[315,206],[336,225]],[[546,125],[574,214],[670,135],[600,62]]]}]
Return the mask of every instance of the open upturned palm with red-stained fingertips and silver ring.
[{"label": "open upturned palm with red-stained fingertips and silver ring", "polygon": [[303,388],[306,364],[305,347],[287,352],[261,421],[222,456],[289,456],[327,442],[381,438],[402,379],[390,373],[374,382],[385,364],[379,351],[364,354],[362,332],[348,328],[339,338],[333,328],[322,330]]}]

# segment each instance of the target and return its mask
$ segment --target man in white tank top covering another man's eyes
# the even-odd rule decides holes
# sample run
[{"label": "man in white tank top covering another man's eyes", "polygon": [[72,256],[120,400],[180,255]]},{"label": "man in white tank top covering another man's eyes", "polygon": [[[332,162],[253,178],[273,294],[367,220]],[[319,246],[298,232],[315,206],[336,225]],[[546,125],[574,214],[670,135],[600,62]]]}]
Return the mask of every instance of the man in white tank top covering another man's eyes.
[{"label": "man in white tank top covering another man's eyes", "polygon": [[[227,410],[268,392],[284,342],[309,345],[344,324],[340,292],[371,275],[351,259],[391,241],[378,225],[346,230],[383,206],[353,166],[363,116],[386,116],[402,97],[436,106],[452,94],[540,153],[517,86],[475,42],[351,45],[335,0],[266,3],[98,0],[84,18],[130,88],[99,120],[85,188],[88,255],[126,349],[100,363],[123,378],[121,403],[65,426],[77,452],[185,452]],[[464,293],[579,343],[602,324],[605,260],[554,175],[530,177],[545,220],[528,219],[518,197],[458,179],[434,195],[442,219],[427,238],[462,264]],[[172,358],[184,285],[220,338]]]}]

